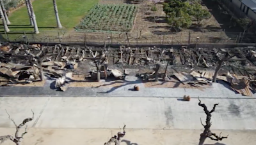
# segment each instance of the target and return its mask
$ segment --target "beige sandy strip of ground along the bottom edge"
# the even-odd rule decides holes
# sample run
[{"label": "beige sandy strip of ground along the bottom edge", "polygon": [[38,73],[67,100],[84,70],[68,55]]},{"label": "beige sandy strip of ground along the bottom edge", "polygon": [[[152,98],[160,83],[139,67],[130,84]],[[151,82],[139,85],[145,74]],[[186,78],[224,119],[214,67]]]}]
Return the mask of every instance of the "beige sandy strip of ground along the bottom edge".
[{"label": "beige sandy strip of ground along the bottom edge", "polygon": [[[85,121],[85,120],[84,120]],[[128,127],[127,127],[128,128]],[[0,128],[0,135],[15,134],[15,129]],[[24,145],[103,145],[119,130],[29,128]],[[197,145],[200,130],[134,130],[127,129],[120,145]],[[205,145],[255,145],[255,131],[212,130],[228,135],[223,141],[206,139]],[[13,145],[6,141],[1,145]]]}]

